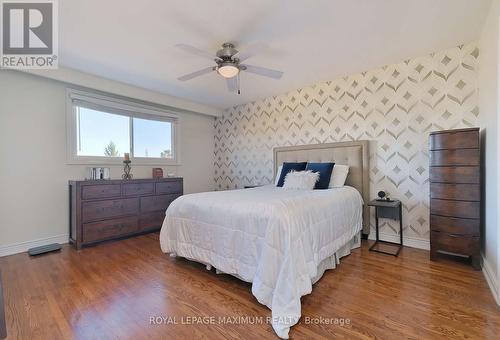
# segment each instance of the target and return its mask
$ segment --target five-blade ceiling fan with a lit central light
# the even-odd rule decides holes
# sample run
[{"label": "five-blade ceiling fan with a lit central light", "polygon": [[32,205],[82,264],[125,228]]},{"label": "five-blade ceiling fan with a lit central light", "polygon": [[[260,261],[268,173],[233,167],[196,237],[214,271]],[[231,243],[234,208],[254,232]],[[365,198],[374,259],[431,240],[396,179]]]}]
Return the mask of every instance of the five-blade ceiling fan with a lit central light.
[{"label": "five-blade ceiling fan with a lit central light", "polygon": [[224,43],[222,44],[222,48],[218,50],[215,55],[186,44],[177,44],[175,45],[175,47],[203,58],[212,59],[216,63],[215,66],[209,66],[177,78],[180,81],[190,80],[215,71],[219,75],[226,78],[227,88],[230,92],[238,91],[238,94],[240,94],[241,71],[258,74],[260,76],[273,79],[280,79],[283,76],[283,72],[281,71],[271,70],[269,68],[260,66],[241,64],[241,62],[253,57],[260,51],[267,48],[267,45],[263,43],[251,45],[244,52],[238,51],[231,43]]}]

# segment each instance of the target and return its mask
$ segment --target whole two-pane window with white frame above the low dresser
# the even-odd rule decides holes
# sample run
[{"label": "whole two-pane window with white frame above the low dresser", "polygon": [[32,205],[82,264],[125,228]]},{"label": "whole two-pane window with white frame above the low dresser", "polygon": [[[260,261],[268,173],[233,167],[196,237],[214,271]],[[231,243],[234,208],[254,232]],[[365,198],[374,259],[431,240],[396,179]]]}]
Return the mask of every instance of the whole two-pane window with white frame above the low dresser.
[{"label": "whole two-pane window with white frame above the low dresser", "polygon": [[68,90],[68,161],[176,164],[177,117],[154,107]]}]

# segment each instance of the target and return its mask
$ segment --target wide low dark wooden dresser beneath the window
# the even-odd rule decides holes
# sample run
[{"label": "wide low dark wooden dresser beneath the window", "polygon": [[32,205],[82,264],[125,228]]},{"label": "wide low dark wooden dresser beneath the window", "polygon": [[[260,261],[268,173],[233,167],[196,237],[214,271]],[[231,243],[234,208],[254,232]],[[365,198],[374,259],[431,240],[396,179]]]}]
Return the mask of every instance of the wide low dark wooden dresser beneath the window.
[{"label": "wide low dark wooden dresser beneath the window", "polygon": [[77,249],[157,231],[182,178],[70,181],[70,242]]}]

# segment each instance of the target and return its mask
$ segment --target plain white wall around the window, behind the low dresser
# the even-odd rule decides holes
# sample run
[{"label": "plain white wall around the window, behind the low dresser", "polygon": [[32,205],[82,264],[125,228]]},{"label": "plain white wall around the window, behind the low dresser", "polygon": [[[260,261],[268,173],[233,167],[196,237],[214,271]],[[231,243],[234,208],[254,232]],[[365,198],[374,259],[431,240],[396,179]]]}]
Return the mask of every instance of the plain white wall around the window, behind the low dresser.
[{"label": "plain white wall around the window, behind the low dresser", "polygon": [[[86,165],[66,160],[67,84],[0,71],[0,247],[68,234],[68,180]],[[180,113],[181,165],[164,173],[184,177],[186,193],[213,190],[214,118]],[[134,166],[151,178],[153,166]],[[111,167],[111,177],[122,169]]]}]

